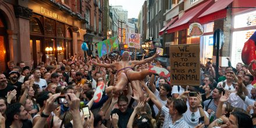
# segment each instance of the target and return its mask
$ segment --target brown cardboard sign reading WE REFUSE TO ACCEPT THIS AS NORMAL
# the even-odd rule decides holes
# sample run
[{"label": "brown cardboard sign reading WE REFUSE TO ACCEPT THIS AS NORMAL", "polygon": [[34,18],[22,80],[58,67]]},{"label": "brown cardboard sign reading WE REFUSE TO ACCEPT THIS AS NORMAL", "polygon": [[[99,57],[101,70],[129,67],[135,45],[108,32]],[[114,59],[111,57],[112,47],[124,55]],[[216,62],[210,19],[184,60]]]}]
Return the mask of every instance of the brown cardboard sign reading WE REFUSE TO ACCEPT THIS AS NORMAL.
[{"label": "brown cardboard sign reading WE REFUSE TO ACCEPT THIS AS NORMAL", "polygon": [[200,44],[170,46],[170,84],[200,86]]}]

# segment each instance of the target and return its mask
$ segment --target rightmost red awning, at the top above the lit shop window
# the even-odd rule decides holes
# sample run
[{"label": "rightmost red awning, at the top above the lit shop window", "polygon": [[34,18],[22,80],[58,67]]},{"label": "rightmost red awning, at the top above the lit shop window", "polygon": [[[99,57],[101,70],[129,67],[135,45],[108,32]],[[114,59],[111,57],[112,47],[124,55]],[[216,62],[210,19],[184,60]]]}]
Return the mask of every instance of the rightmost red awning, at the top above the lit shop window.
[{"label": "rightmost red awning, at the top above the lit shop window", "polygon": [[234,0],[218,0],[209,9],[205,10],[198,18],[200,23],[212,22],[226,17],[226,7]]}]

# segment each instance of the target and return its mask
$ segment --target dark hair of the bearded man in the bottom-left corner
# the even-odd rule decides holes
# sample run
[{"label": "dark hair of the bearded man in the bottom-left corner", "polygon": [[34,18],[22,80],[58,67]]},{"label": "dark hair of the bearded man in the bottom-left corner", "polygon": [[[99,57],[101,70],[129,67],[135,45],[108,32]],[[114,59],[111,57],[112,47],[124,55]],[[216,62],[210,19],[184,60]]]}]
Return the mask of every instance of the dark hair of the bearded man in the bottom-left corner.
[{"label": "dark hair of the bearded man in the bottom-left corner", "polygon": [[22,104],[20,104],[19,102],[16,102],[16,103],[11,104],[11,105],[8,106],[8,108],[5,111],[6,123],[8,125],[12,124],[12,122],[14,120],[13,116],[20,112],[20,107],[21,106],[22,106]]}]

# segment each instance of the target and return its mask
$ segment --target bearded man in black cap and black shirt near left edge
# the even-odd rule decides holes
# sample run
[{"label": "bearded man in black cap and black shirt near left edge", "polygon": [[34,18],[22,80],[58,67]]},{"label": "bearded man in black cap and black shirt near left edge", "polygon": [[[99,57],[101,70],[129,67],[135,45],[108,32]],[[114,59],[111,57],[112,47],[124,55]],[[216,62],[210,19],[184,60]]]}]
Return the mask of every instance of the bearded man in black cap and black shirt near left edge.
[{"label": "bearded man in black cap and black shirt near left edge", "polygon": [[8,77],[10,79],[10,82],[8,83],[8,85],[15,87],[15,89],[17,91],[16,98],[19,98],[20,90],[22,90],[22,83],[18,81],[18,79],[20,77],[20,73],[16,72],[16,71],[12,71],[9,73]]}]

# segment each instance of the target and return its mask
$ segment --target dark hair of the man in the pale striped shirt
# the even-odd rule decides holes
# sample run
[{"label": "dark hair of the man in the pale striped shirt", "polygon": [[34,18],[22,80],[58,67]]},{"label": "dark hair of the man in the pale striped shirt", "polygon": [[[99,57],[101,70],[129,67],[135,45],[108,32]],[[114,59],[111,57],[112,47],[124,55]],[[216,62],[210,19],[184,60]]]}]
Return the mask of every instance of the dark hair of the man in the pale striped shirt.
[{"label": "dark hair of the man in the pale striped shirt", "polygon": [[187,111],[187,105],[182,99],[173,99],[173,108],[175,108],[178,112],[179,115],[182,115]]}]

